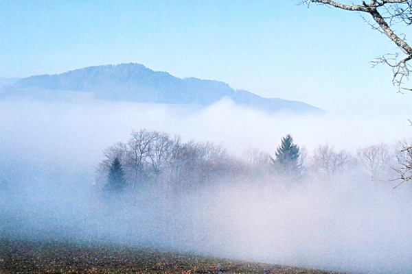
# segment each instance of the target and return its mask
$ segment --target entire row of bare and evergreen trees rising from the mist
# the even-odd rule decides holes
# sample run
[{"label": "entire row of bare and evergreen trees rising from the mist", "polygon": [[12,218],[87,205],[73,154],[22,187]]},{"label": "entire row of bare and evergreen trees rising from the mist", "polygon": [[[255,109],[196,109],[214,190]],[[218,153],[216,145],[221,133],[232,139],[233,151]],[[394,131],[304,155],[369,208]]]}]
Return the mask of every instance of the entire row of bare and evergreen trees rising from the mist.
[{"label": "entire row of bare and evergreen trees rising from the mist", "polygon": [[101,185],[112,192],[124,188],[133,191],[141,186],[187,192],[215,182],[247,178],[250,182],[271,178],[274,182],[297,182],[313,177],[332,184],[334,179],[351,172],[372,181],[388,182],[396,178],[395,171],[411,176],[404,172],[410,166],[400,162],[399,169],[394,167],[397,158],[407,158],[412,150],[398,155],[394,151],[381,144],[359,148],[352,155],[325,144],[308,157],[288,134],[280,140],[273,157],[260,149],[249,149],[243,158],[238,158],[210,142],[182,142],[178,136],[141,129],[132,132],[127,143],[118,142],[104,151],[99,175]]}]

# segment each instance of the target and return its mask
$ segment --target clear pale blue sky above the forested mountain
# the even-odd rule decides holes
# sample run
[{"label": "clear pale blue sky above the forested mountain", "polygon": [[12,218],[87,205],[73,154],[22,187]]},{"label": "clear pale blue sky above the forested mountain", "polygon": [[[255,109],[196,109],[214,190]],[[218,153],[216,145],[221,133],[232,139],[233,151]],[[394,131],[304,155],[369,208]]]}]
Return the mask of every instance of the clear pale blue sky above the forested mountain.
[{"label": "clear pale blue sky above the forested mountain", "polygon": [[3,0],[0,76],[136,62],[328,111],[404,109],[412,97],[368,63],[391,42],[356,13],[298,2]]}]

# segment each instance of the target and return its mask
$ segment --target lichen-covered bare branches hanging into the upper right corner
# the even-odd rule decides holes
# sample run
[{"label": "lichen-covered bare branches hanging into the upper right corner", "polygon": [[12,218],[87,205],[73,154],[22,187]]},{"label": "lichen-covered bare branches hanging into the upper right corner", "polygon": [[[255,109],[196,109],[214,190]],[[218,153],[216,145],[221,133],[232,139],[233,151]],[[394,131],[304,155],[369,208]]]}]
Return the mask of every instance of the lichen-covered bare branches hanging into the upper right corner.
[{"label": "lichen-covered bare branches hanging into the upper right corner", "polygon": [[[405,79],[409,79],[411,65],[408,63],[412,59],[412,47],[409,46],[404,34],[396,34],[397,25],[412,24],[412,1],[411,0],[371,0],[369,3],[362,1],[360,4],[348,5],[333,0],[303,0],[301,4],[318,3],[328,5],[342,10],[369,14],[371,21],[369,25],[382,34],[385,34],[400,49],[401,53],[388,53],[376,58],[373,65],[387,64],[393,72],[392,83],[398,86],[399,91]],[[402,36],[402,37],[401,37]],[[410,88],[404,88],[412,90]]]}]

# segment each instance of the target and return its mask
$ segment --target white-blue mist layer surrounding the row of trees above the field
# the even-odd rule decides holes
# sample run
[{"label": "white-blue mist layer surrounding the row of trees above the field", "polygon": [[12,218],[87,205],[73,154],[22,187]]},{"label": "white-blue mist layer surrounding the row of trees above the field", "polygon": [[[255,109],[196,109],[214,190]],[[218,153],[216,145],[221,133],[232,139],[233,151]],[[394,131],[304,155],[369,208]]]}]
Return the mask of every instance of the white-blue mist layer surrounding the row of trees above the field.
[{"label": "white-blue mist layer surrounding the row of trees above the field", "polygon": [[235,155],[274,156],[292,134],[309,153],[408,135],[404,121],[371,116],[288,116],[221,101],[206,109],[137,103],[0,103],[0,232],[3,237],[108,240],[317,268],[412,271],[408,185],[345,173],[333,179],[222,178],[196,191],[144,186],[105,197],[95,182],[103,150],[132,129],[211,141]]}]

